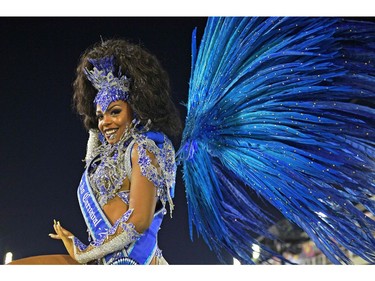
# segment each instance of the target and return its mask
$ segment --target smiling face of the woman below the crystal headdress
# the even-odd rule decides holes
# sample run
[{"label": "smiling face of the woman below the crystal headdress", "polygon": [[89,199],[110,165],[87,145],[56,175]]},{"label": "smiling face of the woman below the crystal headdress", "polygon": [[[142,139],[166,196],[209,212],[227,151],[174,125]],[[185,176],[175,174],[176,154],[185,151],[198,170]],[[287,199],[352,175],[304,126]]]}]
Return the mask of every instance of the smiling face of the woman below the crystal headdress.
[{"label": "smiling face of the woman below the crystal headdress", "polygon": [[121,139],[133,119],[130,105],[122,100],[112,102],[105,112],[98,104],[96,116],[98,128],[109,144],[117,143]]}]

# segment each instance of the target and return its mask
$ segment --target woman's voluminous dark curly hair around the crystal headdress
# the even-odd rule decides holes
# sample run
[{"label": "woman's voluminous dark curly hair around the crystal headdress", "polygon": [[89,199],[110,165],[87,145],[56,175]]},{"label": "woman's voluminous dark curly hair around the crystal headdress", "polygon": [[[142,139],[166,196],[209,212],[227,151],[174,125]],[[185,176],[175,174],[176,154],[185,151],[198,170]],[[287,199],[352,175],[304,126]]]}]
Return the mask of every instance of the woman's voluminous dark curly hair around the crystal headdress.
[{"label": "woman's voluminous dark curly hair around the crystal headdress", "polygon": [[[144,47],[123,39],[98,42],[81,56],[73,83],[73,105],[82,116],[87,130],[97,129],[94,98],[97,90],[86,78],[84,69],[92,69],[88,59],[113,56],[116,67],[130,78],[129,100],[133,112],[142,125],[151,120],[151,130],[162,131],[170,137],[181,132],[181,120],[170,98],[167,72],[159,60]],[[115,72],[117,73],[117,71]]]}]

